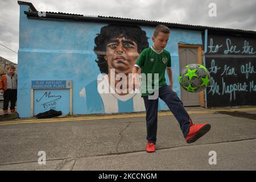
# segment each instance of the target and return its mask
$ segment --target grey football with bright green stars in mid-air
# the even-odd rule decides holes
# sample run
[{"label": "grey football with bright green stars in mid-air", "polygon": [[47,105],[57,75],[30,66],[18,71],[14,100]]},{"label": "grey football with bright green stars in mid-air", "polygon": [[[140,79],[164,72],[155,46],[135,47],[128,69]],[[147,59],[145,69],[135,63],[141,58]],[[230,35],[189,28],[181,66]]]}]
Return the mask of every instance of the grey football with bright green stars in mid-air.
[{"label": "grey football with bright green stars in mid-air", "polygon": [[203,65],[189,64],[181,70],[179,82],[188,92],[200,92],[209,85],[210,73]]}]

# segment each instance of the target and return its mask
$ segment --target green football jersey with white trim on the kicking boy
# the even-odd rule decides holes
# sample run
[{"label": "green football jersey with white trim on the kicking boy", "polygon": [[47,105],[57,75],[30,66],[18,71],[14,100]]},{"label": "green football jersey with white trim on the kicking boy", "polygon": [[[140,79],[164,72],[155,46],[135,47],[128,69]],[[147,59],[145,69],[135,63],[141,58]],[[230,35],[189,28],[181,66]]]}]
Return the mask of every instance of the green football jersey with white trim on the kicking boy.
[{"label": "green football jersey with white trim on the kicking boy", "polygon": [[135,67],[141,68],[141,92],[142,97],[145,97],[166,84],[166,77],[164,75],[166,68],[171,68],[171,55],[165,49],[156,51],[151,46],[142,51]]}]

